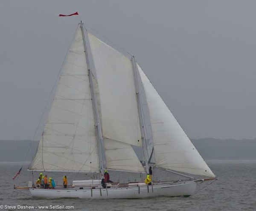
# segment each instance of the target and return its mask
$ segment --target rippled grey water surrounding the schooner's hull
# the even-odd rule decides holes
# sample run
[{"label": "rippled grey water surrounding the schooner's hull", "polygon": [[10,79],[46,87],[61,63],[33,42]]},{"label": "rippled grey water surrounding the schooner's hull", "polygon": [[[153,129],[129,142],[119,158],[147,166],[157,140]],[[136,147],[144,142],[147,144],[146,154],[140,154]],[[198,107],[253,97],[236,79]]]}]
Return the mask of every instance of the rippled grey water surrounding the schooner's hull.
[{"label": "rippled grey water surrounding the schooner's hull", "polygon": [[[256,211],[256,161],[208,161],[209,167],[220,178],[209,185],[198,186],[194,195],[184,197],[155,197],[135,200],[82,200],[82,199],[35,199],[29,191],[13,189],[13,185],[25,186],[32,174],[24,166],[15,181],[12,177],[21,167],[19,163],[0,163],[0,205],[68,205],[83,211]],[[156,179],[174,178],[173,174],[154,171]],[[55,182],[61,183],[62,174],[50,173]],[[35,178],[38,177],[36,173]],[[93,175],[67,174],[68,181],[91,179]],[[144,175],[142,175],[144,178]],[[129,179],[128,179],[129,178]],[[140,174],[111,172],[112,180],[127,182],[140,180]],[[2,209],[18,210],[18,209]],[[19,209],[21,210],[21,209]],[[26,209],[26,211],[29,209]],[[35,209],[38,210],[38,209]],[[61,209],[58,209],[61,210]]]}]

